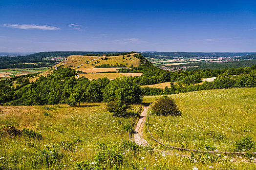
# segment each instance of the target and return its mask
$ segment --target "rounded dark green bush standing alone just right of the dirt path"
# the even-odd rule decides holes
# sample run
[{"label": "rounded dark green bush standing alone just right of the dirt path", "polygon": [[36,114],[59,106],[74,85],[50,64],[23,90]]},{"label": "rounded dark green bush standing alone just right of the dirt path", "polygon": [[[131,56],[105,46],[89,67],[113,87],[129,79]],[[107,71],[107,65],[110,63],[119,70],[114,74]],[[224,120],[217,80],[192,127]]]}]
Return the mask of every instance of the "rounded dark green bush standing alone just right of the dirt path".
[{"label": "rounded dark green bush standing alone just right of the dirt path", "polygon": [[164,116],[181,115],[181,111],[178,109],[174,100],[167,96],[163,96],[156,103],[154,103],[154,105],[152,106],[152,111],[153,111],[153,114],[156,114],[156,115],[164,115]]}]

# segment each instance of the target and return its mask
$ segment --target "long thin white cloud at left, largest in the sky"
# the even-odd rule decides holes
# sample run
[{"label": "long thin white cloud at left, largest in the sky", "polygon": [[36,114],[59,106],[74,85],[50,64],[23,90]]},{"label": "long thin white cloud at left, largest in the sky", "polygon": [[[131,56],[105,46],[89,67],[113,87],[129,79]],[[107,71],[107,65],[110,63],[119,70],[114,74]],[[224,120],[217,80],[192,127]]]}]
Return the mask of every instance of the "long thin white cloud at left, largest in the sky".
[{"label": "long thin white cloud at left, largest in the sky", "polygon": [[38,29],[38,30],[61,30],[60,28],[48,25],[33,25],[33,24],[3,24],[4,27],[18,28],[18,29]]}]

